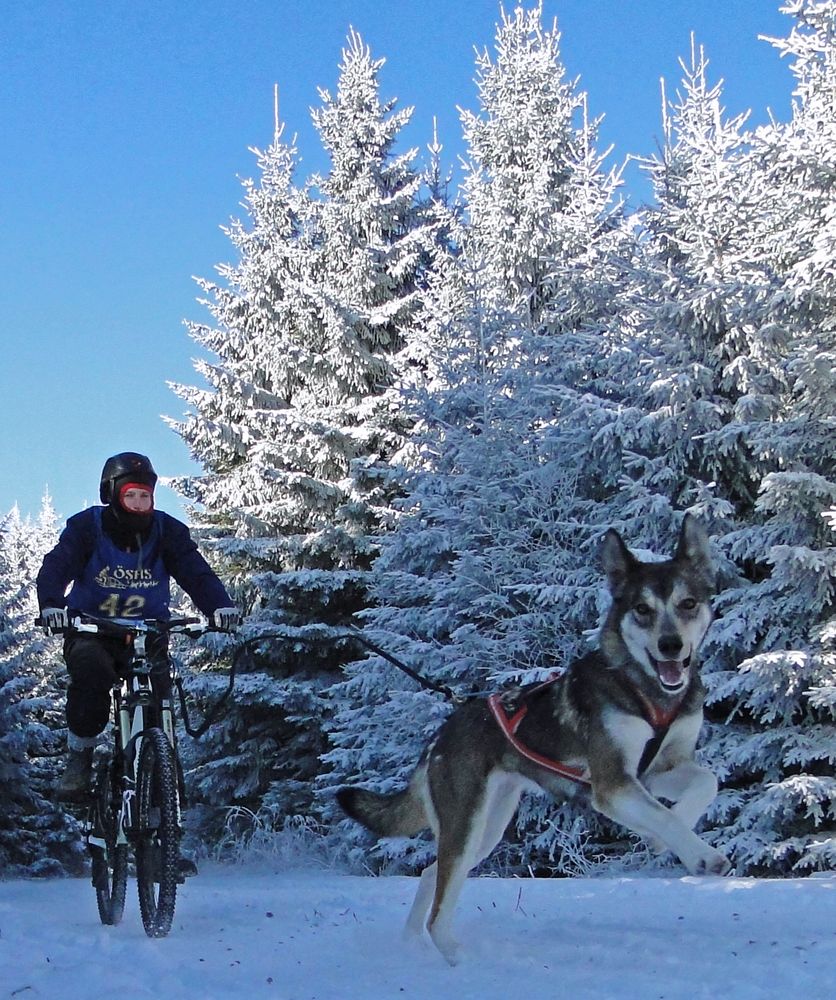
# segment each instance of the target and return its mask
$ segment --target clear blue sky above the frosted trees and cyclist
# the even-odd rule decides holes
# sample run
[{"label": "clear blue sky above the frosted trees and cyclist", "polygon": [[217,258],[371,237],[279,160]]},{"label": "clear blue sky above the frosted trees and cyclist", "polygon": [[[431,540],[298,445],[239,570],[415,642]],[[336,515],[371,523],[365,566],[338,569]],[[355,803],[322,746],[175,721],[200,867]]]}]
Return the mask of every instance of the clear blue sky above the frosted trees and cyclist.
[{"label": "clear blue sky above the frosted trees and cyclist", "polygon": [[[534,0],[525,6],[533,6]],[[506,4],[512,9],[513,4]],[[778,0],[544,0],[612,162],[650,154],[659,79],[673,93],[696,33],[730,114],[789,116],[792,76],[758,35],[783,36]],[[205,321],[192,276],[230,259],[251,146],[298,136],[299,180],[327,169],[310,108],[335,89],[350,27],[385,58],[384,98],[414,106],[404,146],[438,120],[462,151],[457,107],[477,110],[474,49],[491,48],[497,0],[4,0],[0,11],[0,516],[67,517],[97,502],[104,459],[151,456],[195,471],[161,415],[166,382],[198,381],[185,319]],[[635,168],[633,200],[647,196]],[[168,489],[158,505],[182,507]]]}]

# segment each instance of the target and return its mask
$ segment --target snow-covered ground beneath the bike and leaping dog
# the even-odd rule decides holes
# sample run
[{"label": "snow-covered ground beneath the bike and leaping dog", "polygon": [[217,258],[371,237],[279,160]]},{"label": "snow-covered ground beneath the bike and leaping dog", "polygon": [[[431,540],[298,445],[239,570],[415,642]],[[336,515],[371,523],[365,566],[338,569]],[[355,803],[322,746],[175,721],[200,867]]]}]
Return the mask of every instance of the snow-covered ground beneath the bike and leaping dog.
[{"label": "snow-covered ground beneath the bike and leaping dog", "polygon": [[474,878],[451,968],[402,926],[410,878],[204,863],[171,934],[118,927],[86,879],[0,881],[0,998],[836,997],[836,876]]}]

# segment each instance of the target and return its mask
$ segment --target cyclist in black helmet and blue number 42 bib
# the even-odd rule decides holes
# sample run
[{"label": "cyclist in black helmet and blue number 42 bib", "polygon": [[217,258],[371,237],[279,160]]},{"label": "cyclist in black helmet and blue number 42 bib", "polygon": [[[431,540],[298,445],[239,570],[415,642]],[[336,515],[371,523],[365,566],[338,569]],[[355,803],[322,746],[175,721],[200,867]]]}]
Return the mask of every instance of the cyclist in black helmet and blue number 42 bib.
[{"label": "cyclist in black helmet and blue number 42 bib", "polygon": [[[58,544],[44,557],[37,590],[45,626],[66,627],[78,613],[169,618],[171,579],[215,626],[238,625],[238,609],[198,552],[188,527],[155,510],[156,483],[157,474],[145,455],[124,451],[105,462],[99,484],[104,506],[69,518]],[[150,652],[155,690],[167,695],[171,681],[165,640]],[[130,648],[118,639],[71,633],[64,640],[70,675],[69,753],[56,787],[59,798],[78,800],[89,790],[93,748],[110,717],[111,688],[130,659]]]}]

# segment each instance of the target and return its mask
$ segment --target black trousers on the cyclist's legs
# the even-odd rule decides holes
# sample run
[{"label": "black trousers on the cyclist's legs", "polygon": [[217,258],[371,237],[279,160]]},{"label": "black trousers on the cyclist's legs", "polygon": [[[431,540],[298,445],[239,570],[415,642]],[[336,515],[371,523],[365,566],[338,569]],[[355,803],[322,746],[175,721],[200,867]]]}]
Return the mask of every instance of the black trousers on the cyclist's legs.
[{"label": "black trousers on the cyclist's legs", "polygon": [[[158,698],[171,693],[168,643],[164,636],[148,639],[151,683]],[[126,676],[132,647],[121,639],[74,633],[64,642],[64,660],[70,675],[67,689],[67,728],[76,736],[98,736],[110,718],[111,689]]]}]

